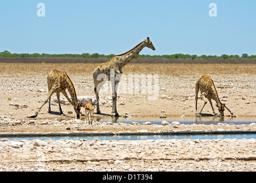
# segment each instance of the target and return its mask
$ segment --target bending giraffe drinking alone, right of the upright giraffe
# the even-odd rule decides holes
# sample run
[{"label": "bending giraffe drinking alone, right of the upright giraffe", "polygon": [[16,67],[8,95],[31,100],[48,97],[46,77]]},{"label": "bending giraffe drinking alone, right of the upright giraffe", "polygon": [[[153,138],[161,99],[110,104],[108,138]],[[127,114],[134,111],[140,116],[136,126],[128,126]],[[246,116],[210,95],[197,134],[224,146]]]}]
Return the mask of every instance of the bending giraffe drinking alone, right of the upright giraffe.
[{"label": "bending giraffe drinking alone, right of the upright giraffe", "polygon": [[[229,108],[227,108],[227,106],[225,104],[223,104],[222,102],[220,102],[219,97],[218,97],[218,93],[216,90],[216,87],[214,85],[214,82],[212,81],[211,77],[207,74],[203,74],[198,81],[196,82],[196,92],[195,92],[195,109],[196,109],[196,115],[200,115],[202,113],[202,110],[204,108],[204,106],[207,104],[206,98],[208,99],[208,101],[211,104],[211,108],[212,108],[212,112],[218,116],[218,113],[215,112],[214,107],[212,106],[212,100],[216,101],[216,106],[219,108],[219,112],[220,115],[223,117],[224,116],[224,110],[225,108],[227,110],[229,110]],[[198,109],[197,109],[197,105],[198,105],[198,92],[201,92],[201,99],[204,101],[204,105],[202,107],[202,109],[200,110],[200,112],[198,113]],[[233,112],[231,112],[229,110],[229,112],[231,113],[231,115],[234,115]]]}]

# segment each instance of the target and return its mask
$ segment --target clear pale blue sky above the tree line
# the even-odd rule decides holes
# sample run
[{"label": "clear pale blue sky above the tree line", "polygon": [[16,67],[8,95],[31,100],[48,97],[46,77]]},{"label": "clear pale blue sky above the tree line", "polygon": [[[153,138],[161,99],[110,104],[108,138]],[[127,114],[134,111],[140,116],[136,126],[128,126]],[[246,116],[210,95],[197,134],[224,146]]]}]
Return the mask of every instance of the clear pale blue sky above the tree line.
[{"label": "clear pale blue sky above the tree line", "polygon": [[255,0],[0,1],[0,51],[121,54],[150,37],[156,50],[140,54],[256,55],[255,8]]}]

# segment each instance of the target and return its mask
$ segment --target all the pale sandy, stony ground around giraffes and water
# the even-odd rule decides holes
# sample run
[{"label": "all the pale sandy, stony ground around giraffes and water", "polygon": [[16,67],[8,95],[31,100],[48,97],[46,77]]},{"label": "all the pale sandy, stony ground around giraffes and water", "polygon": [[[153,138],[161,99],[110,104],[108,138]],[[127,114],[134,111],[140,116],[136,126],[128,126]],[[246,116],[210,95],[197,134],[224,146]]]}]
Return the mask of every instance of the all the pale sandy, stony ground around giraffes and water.
[{"label": "all the pale sandy, stony ground around giraffes and water", "polygon": [[[93,125],[88,125],[82,120],[75,120],[73,108],[68,104],[62,105],[64,116],[58,113],[57,105],[52,105],[54,113],[49,114],[48,104],[46,104],[40,114],[38,114],[38,117],[33,120],[26,118],[26,116],[33,115],[42,105],[42,101],[44,101],[44,98],[48,94],[46,83],[47,74],[45,71],[38,71],[37,68],[32,68],[30,69],[31,71],[14,71],[11,70],[13,69],[12,66],[6,64],[1,65],[0,69],[0,100],[2,101],[2,105],[0,106],[0,124],[2,125],[0,133],[2,134],[256,130],[256,125],[254,124],[164,126],[130,124],[109,125],[94,122]],[[256,74],[246,72],[234,74],[229,72],[228,69],[229,68],[226,69],[226,73],[211,72],[211,74],[209,74],[215,82],[220,100],[225,102],[238,118],[255,117],[256,93],[254,88],[256,85]],[[182,68],[180,68],[180,71],[182,71]],[[129,71],[127,72],[127,74],[131,73],[132,72]],[[91,74],[81,72],[70,72],[68,74],[76,87],[78,97],[94,97],[94,85]],[[149,70],[143,74],[151,74],[152,76],[154,76],[154,74],[158,75],[158,90],[153,91],[155,92],[154,94],[157,92],[157,98],[155,100],[149,100],[148,90],[146,90],[145,93],[141,93],[144,87],[139,87],[138,89],[135,89],[134,85],[133,87],[125,87],[124,82],[121,87],[127,90],[131,89],[130,92],[132,91],[132,93],[125,93],[124,91],[119,94],[117,99],[117,110],[121,116],[119,120],[123,118],[126,113],[131,114],[135,121],[136,117],[159,118],[160,116],[195,116],[195,82],[202,74],[200,71],[195,74],[177,75],[170,73],[151,73]],[[124,81],[127,79],[126,84],[130,85],[131,83],[128,83],[128,75],[123,76],[122,79],[124,78]],[[154,82],[154,79],[152,82]],[[105,84],[105,86],[108,86],[108,84]],[[100,109],[103,114],[94,114],[94,120],[97,119],[97,117],[109,117],[109,114],[111,114],[111,90],[108,90],[107,87],[104,91],[102,90],[100,93],[100,99],[103,102],[100,105]],[[54,98],[56,98],[55,94],[52,99],[54,100]],[[199,100],[198,102],[198,108],[200,109],[203,105],[203,101]],[[82,109],[82,113],[84,114],[84,109]],[[203,113],[207,116],[213,114],[210,104],[206,105]],[[225,118],[229,116],[229,112],[225,111]],[[165,120],[165,118],[163,118],[163,120]],[[168,122],[171,123],[171,121]],[[68,130],[68,128],[70,130]],[[123,145],[113,145],[111,141],[101,142],[98,140],[97,143],[98,142],[106,146],[100,144],[97,144],[97,146],[90,145],[90,143],[94,143],[94,141],[90,142],[86,140],[49,140],[42,141],[41,143],[43,143],[43,145],[38,146],[34,144],[31,145],[31,142],[28,141],[18,141],[18,145],[15,146],[12,144],[14,143],[12,141],[2,140],[0,141],[2,156],[0,171],[254,171],[256,169],[254,140],[218,140],[218,142],[212,140],[210,141],[210,145],[207,140],[199,140],[199,142],[191,142],[191,140],[166,140],[159,142],[159,146],[156,145],[158,141],[153,140],[116,142],[117,144]],[[190,144],[190,148],[185,148],[186,150],[181,153],[180,150],[182,150],[184,146],[179,146],[178,144],[182,144],[183,142]],[[225,143],[229,144],[230,148],[227,148]],[[73,146],[63,147],[62,144],[73,144]],[[85,146],[83,147],[83,145],[80,144],[84,144]],[[172,144],[174,145],[172,146]],[[246,145],[244,146],[244,144]],[[27,149],[27,147],[29,148]],[[58,150],[55,150],[54,147]],[[54,150],[51,151],[51,148]],[[62,150],[65,148],[66,150]],[[149,153],[149,149],[147,148],[152,152]],[[223,149],[220,150],[221,148]],[[127,157],[122,155],[132,149],[135,151],[132,153],[135,153],[136,156]],[[93,154],[97,152],[101,155],[95,157],[95,155],[90,155],[88,150],[89,152],[93,152]],[[56,154],[57,152],[61,153]],[[83,154],[84,152],[88,152],[88,155],[83,156],[81,152],[83,152]],[[109,152],[111,152],[111,156],[107,155]],[[186,155],[187,152],[190,152],[190,156]],[[229,153],[227,153],[226,156],[219,152]],[[141,153],[143,153],[143,157],[137,156],[138,154],[141,155]],[[21,154],[23,154],[23,157]],[[44,156],[42,156],[42,154]],[[170,154],[172,155],[171,157]],[[183,155],[181,156],[181,154]],[[42,157],[44,158],[42,159]]]}]

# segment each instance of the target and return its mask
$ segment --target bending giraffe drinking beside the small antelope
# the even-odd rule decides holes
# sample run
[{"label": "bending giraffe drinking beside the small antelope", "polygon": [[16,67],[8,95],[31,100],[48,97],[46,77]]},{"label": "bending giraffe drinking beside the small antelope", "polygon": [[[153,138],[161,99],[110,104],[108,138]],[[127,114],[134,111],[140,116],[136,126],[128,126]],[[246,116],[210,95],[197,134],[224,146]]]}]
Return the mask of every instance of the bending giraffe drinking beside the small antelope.
[{"label": "bending giraffe drinking beside the small antelope", "polygon": [[[57,69],[54,69],[54,70],[50,71],[50,73],[48,74],[47,82],[48,82],[49,94],[46,97],[46,100],[44,101],[44,104],[42,104],[42,106],[44,106],[47,103],[47,101],[49,100],[48,113],[51,112],[50,97],[52,96],[53,93],[57,93],[60,113],[63,114],[62,109],[61,109],[61,104],[60,104],[60,92],[61,92],[68,99],[69,103],[74,106],[74,111],[76,112],[77,118],[80,118],[81,104],[78,104],[78,102],[77,102],[76,90],[74,89],[74,85],[73,85],[71,79],[69,78],[68,74],[66,74],[65,71],[59,71]],[[68,94],[66,93],[66,89],[68,89],[68,91],[70,93],[71,100],[68,97]],[[36,115],[28,116],[28,118],[37,117],[42,106],[37,110]]]}]

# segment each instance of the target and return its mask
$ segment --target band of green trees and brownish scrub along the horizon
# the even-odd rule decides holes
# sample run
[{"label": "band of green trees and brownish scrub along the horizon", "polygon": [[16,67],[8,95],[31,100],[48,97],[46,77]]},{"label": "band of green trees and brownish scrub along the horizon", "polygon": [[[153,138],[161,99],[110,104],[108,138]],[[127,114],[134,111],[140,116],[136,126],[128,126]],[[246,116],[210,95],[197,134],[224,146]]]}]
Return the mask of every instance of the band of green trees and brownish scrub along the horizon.
[{"label": "band of green trees and brownish scrub along the horizon", "polygon": [[[5,63],[103,63],[107,62],[114,54],[104,55],[99,53],[89,54],[16,54],[9,51],[0,52],[0,62]],[[212,55],[144,55],[139,54],[133,63],[242,63],[256,64],[256,55],[242,54],[221,56]]]}]

